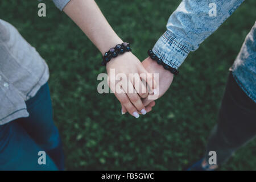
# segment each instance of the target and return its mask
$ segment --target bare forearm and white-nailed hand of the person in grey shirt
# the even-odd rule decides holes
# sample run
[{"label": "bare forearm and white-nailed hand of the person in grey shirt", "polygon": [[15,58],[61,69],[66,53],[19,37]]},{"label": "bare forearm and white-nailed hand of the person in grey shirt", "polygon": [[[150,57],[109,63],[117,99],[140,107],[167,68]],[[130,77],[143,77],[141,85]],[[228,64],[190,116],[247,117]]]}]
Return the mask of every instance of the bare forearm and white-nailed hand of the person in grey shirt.
[{"label": "bare forearm and white-nailed hand of the person in grey shirt", "polygon": [[[109,23],[101,13],[95,1],[70,1],[64,7],[63,11],[81,28],[81,30],[88,36],[93,44],[100,50],[102,55],[104,55],[104,53],[113,46],[123,43],[118,35],[115,34],[112,27],[110,27]],[[106,67],[110,78],[110,89],[113,91],[115,90],[116,81],[115,79],[111,78],[111,75],[114,75],[115,77],[115,75],[118,73],[124,73],[124,75],[126,75],[128,78],[129,73],[136,73],[137,76],[134,75],[137,77],[136,80],[138,82],[142,82],[141,79],[138,79],[138,75],[140,73],[147,73],[141,62],[131,52],[125,52],[123,55],[118,55],[109,63],[107,63]],[[114,69],[115,74],[111,74],[111,69]],[[155,89],[154,84],[152,84],[152,77],[149,76],[147,78],[147,76],[144,75],[142,78],[148,82],[150,89]],[[131,115],[138,118],[139,112],[146,114],[146,110],[142,104],[141,97],[147,97],[147,89],[146,93],[140,93],[140,89],[135,86],[135,82],[136,81],[133,80],[127,80],[127,84],[123,85],[118,82],[117,87],[122,87],[122,92],[115,92],[115,96]],[[123,87],[127,86],[129,86],[130,90],[136,90],[139,94],[136,92],[126,92],[126,90],[123,90]]]}]

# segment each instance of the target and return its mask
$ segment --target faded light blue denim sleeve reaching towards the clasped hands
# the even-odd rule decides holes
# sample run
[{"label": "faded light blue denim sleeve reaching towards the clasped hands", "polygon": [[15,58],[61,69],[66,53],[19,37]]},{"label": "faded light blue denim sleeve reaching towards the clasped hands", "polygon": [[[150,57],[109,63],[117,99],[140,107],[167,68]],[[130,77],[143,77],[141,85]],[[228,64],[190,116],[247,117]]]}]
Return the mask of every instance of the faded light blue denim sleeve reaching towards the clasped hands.
[{"label": "faded light blue denim sleeve reaching towards the clasped hands", "polygon": [[[242,2],[243,0],[183,0],[170,16],[167,31],[156,42],[152,51],[164,63],[179,68],[188,53],[199,48]],[[212,5],[216,7],[216,15],[210,14]]]}]

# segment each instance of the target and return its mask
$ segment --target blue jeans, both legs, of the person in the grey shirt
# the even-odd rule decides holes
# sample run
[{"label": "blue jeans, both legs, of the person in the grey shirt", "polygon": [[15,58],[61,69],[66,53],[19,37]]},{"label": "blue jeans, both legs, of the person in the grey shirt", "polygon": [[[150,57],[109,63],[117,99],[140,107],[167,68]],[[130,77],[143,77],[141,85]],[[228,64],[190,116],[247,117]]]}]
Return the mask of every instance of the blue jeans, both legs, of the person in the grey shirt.
[{"label": "blue jeans, both legs, of the person in the grey shirt", "polygon": [[[26,101],[27,118],[0,125],[0,170],[63,170],[64,154],[53,123],[48,84]],[[46,164],[39,164],[46,152]]]}]

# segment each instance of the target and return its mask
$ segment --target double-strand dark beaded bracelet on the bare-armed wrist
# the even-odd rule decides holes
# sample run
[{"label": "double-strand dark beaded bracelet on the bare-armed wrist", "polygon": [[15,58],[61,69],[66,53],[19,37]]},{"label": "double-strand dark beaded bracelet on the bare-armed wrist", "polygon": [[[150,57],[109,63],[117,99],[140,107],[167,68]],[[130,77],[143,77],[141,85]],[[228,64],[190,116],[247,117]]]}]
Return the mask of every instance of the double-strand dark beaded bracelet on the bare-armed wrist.
[{"label": "double-strand dark beaded bracelet on the bare-armed wrist", "polygon": [[103,61],[101,65],[105,66],[112,59],[112,57],[117,57],[119,54],[129,51],[131,51],[129,43],[124,42],[122,44],[117,44],[117,46],[109,49],[108,52],[105,52],[104,56],[102,56]]}]

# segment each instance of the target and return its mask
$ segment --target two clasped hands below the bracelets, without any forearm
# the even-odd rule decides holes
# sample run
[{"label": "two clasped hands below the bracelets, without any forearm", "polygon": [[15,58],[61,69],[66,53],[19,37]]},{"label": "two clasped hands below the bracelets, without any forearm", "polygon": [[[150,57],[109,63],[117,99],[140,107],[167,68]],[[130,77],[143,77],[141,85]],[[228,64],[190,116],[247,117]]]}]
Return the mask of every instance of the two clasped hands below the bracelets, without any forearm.
[{"label": "two clasped hands below the bracelets, without any forearm", "polygon": [[[114,94],[121,102],[121,113],[125,114],[128,112],[135,118],[139,118],[140,114],[144,115],[152,110],[152,107],[155,106],[155,100],[163,96],[174,78],[174,75],[170,71],[164,69],[155,60],[147,57],[141,62],[131,52],[125,52],[122,55],[114,57],[106,64],[106,69],[108,72],[109,87],[112,91],[114,86],[115,89],[118,87],[122,89],[125,86],[129,88],[122,89],[122,92],[114,92]],[[118,73],[125,74],[127,76],[126,85],[117,85],[117,80],[115,76],[111,75],[111,70],[114,70],[115,75]],[[129,74],[137,76],[130,79]],[[155,75],[158,75],[158,78]],[[146,89],[146,92],[144,92],[143,87],[145,87],[144,90]],[[129,92],[127,92],[128,90]],[[152,95],[156,96],[150,97]]]}]

